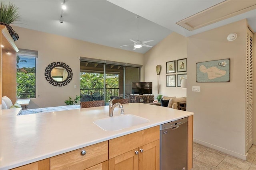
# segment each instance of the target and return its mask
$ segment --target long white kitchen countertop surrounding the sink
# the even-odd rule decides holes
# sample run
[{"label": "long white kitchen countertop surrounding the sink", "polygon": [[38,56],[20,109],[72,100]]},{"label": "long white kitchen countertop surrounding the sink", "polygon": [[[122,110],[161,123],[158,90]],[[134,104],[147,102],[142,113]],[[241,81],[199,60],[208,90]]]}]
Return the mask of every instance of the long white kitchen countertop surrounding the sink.
[{"label": "long white kitchen countertop surrounding the sink", "polygon": [[[18,115],[20,109],[0,110],[0,169],[7,170],[194,115],[149,104],[123,104],[124,114],[148,123],[119,131],[104,131],[93,121],[108,117],[108,106]],[[120,109],[114,109],[114,116]]]}]

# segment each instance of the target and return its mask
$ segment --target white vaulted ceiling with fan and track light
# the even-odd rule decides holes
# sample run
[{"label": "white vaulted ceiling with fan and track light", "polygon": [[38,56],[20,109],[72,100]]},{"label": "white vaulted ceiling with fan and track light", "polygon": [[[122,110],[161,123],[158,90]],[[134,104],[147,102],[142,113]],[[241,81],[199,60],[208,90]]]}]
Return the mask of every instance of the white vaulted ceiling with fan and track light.
[{"label": "white vaulted ceiling with fan and track light", "polygon": [[[240,0],[241,3],[244,0]],[[210,8],[223,0],[2,0],[19,7],[22,23],[19,27],[53,33],[109,47],[134,51],[129,39],[154,46],[173,31],[186,37],[247,18],[256,31],[256,10],[188,31],[176,22]],[[60,23],[62,13],[63,23]],[[139,18],[139,32],[137,18]],[[139,36],[139,37],[137,37]],[[146,53],[150,48],[136,49]]]}]

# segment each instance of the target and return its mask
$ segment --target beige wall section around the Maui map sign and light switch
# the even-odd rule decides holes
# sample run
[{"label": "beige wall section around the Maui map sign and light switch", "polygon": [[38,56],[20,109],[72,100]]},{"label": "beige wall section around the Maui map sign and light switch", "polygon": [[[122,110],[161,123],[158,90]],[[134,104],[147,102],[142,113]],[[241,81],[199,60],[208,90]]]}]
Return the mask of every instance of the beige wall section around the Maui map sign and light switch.
[{"label": "beige wall section around the Maui map sign and light switch", "polygon": [[[227,41],[230,33],[235,41]],[[194,141],[245,159],[247,21],[188,38],[187,111],[194,115]],[[230,82],[196,82],[196,63],[230,59]],[[192,92],[201,86],[201,92]]]}]

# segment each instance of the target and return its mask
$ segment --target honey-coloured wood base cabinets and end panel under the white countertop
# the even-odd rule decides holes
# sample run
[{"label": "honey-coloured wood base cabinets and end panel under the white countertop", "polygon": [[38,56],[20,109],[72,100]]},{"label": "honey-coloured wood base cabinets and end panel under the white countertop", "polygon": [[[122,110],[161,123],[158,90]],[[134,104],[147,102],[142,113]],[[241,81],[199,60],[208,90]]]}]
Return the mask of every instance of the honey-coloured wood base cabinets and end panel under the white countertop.
[{"label": "honey-coloured wood base cabinets and end panel under the white countertop", "polygon": [[[188,170],[193,158],[193,115],[188,117]],[[82,155],[81,151],[86,154]],[[159,170],[160,127],[110,139],[12,170]]]}]

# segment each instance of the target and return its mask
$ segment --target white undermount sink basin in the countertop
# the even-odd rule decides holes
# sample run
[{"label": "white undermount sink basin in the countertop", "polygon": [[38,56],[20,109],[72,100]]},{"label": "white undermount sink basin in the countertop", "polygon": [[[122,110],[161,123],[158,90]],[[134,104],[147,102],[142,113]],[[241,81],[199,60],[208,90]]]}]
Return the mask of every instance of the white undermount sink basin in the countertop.
[{"label": "white undermount sink basin in the countertop", "polygon": [[93,123],[105,131],[119,131],[128,127],[149,122],[148,119],[135,115],[119,115],[95,120]]}]

